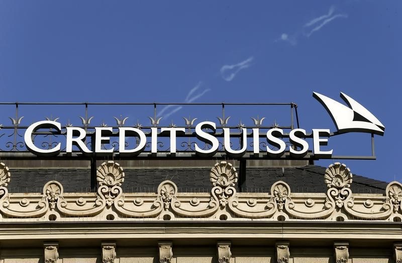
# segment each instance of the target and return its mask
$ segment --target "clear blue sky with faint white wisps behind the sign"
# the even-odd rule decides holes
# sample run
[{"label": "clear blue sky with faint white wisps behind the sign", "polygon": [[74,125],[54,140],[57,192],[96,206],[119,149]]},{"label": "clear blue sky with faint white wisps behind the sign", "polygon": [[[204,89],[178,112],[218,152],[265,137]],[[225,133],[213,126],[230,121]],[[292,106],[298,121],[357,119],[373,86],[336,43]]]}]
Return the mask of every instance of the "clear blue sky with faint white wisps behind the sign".
[{"label": "clear blue sky with faint white wisps behind the sign", "polygon": [[[335,130],[312,92],[341,101],[343,91],[386,128],[375,138],[376,161],[342,162],[352,173],[401,181],[401,12],[400,1],[1,1],[2,101],[293,101],[303,128]],[[261,110],[243,113],[279,118]],[[10,125],[7,117],[0,123]],[[79,121],[73,111],[68,118]],[[369,141],[343,135],[330,146],[370,154]]]}]

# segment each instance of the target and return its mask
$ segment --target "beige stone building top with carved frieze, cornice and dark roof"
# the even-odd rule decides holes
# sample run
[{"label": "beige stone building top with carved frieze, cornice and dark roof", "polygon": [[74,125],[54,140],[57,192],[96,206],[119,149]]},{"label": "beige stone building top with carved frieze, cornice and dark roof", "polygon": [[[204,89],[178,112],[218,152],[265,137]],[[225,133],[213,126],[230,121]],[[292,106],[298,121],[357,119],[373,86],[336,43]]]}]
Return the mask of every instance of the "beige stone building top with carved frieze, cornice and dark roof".
[{"label": "beige stone building top with carved frieze, cornice and dark roof", "polygon": [[2,263],[402,261],[402,185],[340,163],[250,165],[239,191],[228,161],[105,161],[91,191],[85,164],[4,162]]}]

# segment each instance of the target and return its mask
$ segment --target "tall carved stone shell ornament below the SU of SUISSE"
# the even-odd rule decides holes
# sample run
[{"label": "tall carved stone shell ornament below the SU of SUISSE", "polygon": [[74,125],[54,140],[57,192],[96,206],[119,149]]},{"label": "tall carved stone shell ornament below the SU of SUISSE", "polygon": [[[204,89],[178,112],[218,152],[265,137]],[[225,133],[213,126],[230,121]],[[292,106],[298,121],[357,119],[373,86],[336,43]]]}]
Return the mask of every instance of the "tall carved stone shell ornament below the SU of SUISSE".
[{"label": "tall carved stone shell ornament below the SU of SUISSE", "polygon": [[231,163],[222,161],[211,169],[210,180],[214,188],[212,192],[218,195],[219,203],[225,207],[229,197],[236,193],[234,188],[238,175]]}]

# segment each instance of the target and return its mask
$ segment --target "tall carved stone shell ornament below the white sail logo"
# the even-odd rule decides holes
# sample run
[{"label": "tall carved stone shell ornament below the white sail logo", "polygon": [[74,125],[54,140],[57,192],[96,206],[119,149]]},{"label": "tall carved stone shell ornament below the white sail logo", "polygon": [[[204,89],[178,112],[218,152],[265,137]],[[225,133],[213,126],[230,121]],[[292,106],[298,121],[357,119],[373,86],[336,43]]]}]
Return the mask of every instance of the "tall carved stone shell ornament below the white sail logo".
[{"label": "tall carved stone shell ornament below the white sail logo", "polygon": [[345,200],[351,194],[349,187],[352,184],[352,173],[350,169],[341,163],[332,164],[325,171],[324,178],[329,188],[328,194],[334,198],[339,208],[343,207]]}]

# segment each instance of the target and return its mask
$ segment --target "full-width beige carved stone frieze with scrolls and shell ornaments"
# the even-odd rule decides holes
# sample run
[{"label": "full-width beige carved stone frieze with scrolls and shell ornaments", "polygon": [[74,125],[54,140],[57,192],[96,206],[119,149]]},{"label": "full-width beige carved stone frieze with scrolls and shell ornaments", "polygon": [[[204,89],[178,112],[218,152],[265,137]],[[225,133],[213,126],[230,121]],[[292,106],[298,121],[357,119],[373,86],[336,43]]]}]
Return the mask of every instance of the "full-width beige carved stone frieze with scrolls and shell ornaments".
[{"label": "full-width beige carved stone frieze with scrolls and shell ornaments", "polygon": [[[353,194],[350,170],[340,163],[330,165],[324,177],[327,193],[294,194],[291,186],[278,181],[269,193],[237,194],[235,168],[220,162],[211,169],[210,193],[179,193],[175,183],[166,180],[156,193],[123,194],[123,168],[109,161],[98,168],[96,193],[64,193],[59,182],[50,181],[42,195],[10,194],[10,172],[0,164],[0,220],[402,220],[402,184],[389,183],[384,194]],[[49,217],[50,213],[56,217]]]}]

